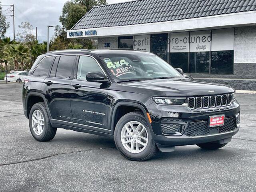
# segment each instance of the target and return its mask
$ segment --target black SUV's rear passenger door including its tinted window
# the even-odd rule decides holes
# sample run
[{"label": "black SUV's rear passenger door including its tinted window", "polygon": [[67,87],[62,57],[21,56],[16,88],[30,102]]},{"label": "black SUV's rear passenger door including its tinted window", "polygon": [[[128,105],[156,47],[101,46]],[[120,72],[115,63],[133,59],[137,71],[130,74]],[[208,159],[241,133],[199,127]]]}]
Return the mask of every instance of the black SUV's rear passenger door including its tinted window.
[{"label": "black SUV's rear passenger door including its tinted window", "polygon": [[54,123],[72,126],[70,84],[76,55],[56,56],[43,90],[49,103]]}]

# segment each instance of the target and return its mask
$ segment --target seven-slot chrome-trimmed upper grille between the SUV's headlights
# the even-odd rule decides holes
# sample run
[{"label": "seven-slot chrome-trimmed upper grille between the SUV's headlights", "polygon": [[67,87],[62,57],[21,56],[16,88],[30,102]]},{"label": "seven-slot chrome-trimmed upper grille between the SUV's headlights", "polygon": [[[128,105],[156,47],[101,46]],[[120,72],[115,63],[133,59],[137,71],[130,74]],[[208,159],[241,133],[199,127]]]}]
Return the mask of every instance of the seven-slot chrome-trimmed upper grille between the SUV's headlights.
[{"label": "seven-slot chrome-trimmed upper grille between the SUV's headlights", "polygon": [[192,110],[218,108],[230,106],[231,104],[232,94],[188,98],[188,107]]}]

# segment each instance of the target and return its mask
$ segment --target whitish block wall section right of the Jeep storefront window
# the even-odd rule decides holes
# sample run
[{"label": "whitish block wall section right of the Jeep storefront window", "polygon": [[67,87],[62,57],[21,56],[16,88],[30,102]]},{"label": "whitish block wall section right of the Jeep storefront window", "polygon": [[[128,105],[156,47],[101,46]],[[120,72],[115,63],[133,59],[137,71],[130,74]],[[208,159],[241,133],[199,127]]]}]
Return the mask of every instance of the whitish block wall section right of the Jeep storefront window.
[{"label": "whitish block wall section right of the Jeep storefront window", "polygon": [[234,63],[256,63],[256,26],[235,28]]}]

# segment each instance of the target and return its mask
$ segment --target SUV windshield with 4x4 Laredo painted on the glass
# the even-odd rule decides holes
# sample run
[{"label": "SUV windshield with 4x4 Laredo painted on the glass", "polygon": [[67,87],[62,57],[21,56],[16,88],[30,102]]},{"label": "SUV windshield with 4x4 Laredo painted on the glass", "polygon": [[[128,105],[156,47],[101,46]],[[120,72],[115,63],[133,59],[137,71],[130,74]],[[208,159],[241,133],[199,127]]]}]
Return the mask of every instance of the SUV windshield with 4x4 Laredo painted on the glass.
[{"label": "SUV windshield with 4x4 Laredo painted on the glass", "polygon": [[155,55],[117,55],[101,57],[116,82],[160,78],[184,78],[172,66]]}]

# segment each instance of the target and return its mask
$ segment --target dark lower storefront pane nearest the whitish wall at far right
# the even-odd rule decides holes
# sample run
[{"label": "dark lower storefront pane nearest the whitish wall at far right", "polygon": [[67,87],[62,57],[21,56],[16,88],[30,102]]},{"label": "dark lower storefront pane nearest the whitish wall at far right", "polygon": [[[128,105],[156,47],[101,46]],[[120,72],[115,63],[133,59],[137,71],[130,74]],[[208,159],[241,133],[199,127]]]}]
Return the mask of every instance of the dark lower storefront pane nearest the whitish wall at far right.
[{"label": "dark lower storefront pane nearest the whitish wall at far right", "polygon": [[211,73],[233,74],[234,51],[212,51]]}]

